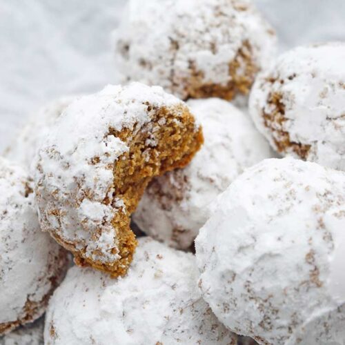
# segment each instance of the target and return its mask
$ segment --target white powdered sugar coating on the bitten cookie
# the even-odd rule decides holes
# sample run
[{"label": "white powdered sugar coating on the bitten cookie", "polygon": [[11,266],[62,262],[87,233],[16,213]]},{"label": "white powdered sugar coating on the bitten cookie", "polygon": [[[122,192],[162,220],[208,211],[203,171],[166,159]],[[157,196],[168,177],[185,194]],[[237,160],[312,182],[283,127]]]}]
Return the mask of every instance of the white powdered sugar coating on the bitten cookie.
[{"label": "white powdered sugar coating on the bitten cookie", "polygon": [[140,83],[107,86],[66,108],[37,159],[35,192],[43,230],[92,261],[120,258],[112,219],[126,210],[115,197],[113,180],[116,161],[129,146],[112,133],[128,129],[134,136],[160,107],[186,108],[162,88]]}]

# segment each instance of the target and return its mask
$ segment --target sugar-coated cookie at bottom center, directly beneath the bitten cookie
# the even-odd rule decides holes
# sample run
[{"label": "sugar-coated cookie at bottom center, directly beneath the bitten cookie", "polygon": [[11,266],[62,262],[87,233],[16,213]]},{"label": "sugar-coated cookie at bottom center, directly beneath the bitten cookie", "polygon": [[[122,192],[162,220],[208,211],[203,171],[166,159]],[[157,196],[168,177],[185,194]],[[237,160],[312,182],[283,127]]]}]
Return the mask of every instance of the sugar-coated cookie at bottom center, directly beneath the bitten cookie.
[{"label": "sugar-coated cookie at bottom center, directly beneath the bitten cookie", "polygon": [[58,344],[226,344],[236,335],[218,322],[197,288],[195,256],[139,239],[125,277],[73,267],[46,313],[44,337]]}]

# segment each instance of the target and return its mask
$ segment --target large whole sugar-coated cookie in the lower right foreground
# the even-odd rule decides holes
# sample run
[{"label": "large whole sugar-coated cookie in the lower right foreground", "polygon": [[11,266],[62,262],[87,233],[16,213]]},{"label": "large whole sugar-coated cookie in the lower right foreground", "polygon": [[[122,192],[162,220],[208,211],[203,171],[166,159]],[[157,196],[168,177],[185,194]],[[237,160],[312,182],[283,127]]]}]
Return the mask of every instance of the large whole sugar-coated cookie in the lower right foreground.
[{"label": "large whole sugar-coated cookie in the lower right foreground", "polygon": [[259,344],[335,345],[345,330],[345,176],[266,159],[219,197],[195,241],[199,288]]}]

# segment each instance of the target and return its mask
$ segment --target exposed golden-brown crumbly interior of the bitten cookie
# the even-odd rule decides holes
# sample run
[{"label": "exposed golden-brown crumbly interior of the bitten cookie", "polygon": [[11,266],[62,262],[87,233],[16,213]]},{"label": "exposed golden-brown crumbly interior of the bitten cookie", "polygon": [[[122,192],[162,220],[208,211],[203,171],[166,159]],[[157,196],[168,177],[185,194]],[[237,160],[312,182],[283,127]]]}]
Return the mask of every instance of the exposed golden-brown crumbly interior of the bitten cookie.
[{"label": "exposed golden-brown crumbly interior of the bitten cookie", "polygon": [[117,159],[113,171],[115,192],[112,200],[122,200],[126,206],[112,219],[121,258],[111,264],[76,258],[77,264],[89,264],[113,277],[124,275],[132,261],[137,241],[130,229],[130,215],[150,180],[186,166],[203,143],[201,128],[195,126],[195,119],[186,106],[156,108],[149,103],[146,106],[151,120],[144,126],[135,124],[134,128],[120,131],[110,128],[110,135],[124,141],[129,148]]}]

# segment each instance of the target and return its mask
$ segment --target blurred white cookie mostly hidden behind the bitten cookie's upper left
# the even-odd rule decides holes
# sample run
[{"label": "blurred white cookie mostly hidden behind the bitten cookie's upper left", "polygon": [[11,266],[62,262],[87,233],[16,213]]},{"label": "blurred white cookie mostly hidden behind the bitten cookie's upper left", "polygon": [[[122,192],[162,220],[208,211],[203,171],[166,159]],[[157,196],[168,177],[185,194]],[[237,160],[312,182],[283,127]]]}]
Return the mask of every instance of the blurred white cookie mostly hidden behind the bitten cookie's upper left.
[{"label": "blurred white cookie mostly hidden behind the bitten cookie's upper left", "polygon": [[63,97],[37,111],[22,128],[14,142],[6,149],[5,157],[33,170],[32,162],[50,127],[75,97]]}]

